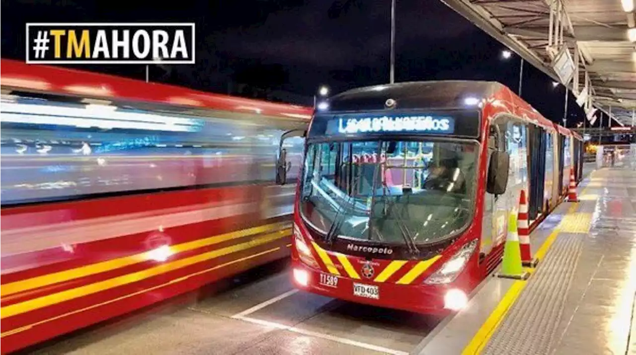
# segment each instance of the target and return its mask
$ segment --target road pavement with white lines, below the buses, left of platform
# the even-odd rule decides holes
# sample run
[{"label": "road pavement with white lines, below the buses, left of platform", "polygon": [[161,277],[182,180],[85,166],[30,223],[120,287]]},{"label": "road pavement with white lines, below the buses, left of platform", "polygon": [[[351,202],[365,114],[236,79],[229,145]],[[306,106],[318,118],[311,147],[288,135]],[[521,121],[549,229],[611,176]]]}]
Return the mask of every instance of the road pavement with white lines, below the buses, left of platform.
[{"label": "road pavement with white lines, below the buses, left of platform", "polygon": [[439,319],[296,291],[279,261],[29,354],[408,354]]}]

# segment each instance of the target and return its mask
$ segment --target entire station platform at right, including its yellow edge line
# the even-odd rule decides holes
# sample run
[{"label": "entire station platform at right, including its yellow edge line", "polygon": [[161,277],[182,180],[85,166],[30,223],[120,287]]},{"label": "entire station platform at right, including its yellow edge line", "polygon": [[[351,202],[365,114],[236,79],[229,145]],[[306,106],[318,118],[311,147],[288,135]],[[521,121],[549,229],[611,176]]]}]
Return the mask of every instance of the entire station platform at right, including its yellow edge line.
[{"label": "entire station platform at right, including its yellow edge line", "polygon": [[497,276],[413,354],[636,354],[636,171],[593,171],[532,233],[526,281]]}]

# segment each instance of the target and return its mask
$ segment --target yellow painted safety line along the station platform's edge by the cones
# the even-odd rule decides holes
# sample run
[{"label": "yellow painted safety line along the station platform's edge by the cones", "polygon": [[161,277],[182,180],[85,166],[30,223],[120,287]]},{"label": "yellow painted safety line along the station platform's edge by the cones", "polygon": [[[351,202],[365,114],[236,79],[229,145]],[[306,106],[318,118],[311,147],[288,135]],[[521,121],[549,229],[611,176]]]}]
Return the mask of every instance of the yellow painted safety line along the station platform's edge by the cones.
[{"label": "yellow painted safety line along the station platform's edge by the cones", "polygon": [[[581,195],[585,192],[587,187],[588,186],[583,189]],[[570,208],[567,210],[567,212],[565,212],[565,216],[574,213],[574,211],[576,211],[576,207],[578,207],[579,205],[572,202],[564,203],[572,204],[570,205]],[[565,218],[565,216],[563,216],[563,218]],[[560,226],[561,224],[557,225],[552,233],[548,235],[548,238],[546,238],[541,247],[539,247],[539,249],[535,253],[535,257],[537,259],[544,259],[546,253],[548,253],[548,250],[550,249],[552,244],[554,244],[556,237],[561,232]],[[481,324],[480,329],[477,331],[477,333],[475,333],[474,337],[471,339],[468,345],[466,345],[464,351],[462,351],[462,355],[476,355],[480,354],[481,351],[483,351],[483,348],[486,346],[486,344],[488,344],[488,341],[490,341],[490,338],[494,334],[495,330],[497,330],[499,324],[501,324],[506,314],[508,314],[508,310],[515,303],[526,285],[527,280],[518,280],[513,282],[512,286],[510,286],[510,288],[506,292],[506,295],[504,295],[504,297],[501,299],[501,302],[499,302],[497,307],[495,307],[495,310],[493,310],[490,316],[488,316],[488,319],[486,319],[486,321]]]}]

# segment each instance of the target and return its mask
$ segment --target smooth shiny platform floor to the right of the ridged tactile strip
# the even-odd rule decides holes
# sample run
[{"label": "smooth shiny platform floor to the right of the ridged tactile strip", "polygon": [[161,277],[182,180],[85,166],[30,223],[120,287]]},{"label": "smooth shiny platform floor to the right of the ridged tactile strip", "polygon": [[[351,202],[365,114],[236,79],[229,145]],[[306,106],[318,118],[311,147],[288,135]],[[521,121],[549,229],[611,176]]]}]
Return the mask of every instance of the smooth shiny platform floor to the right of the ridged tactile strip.
[{"label": "smooth shiny platform floor to the right of the ridged tactile strip", "polygon": [[589,227],[574,235],[581,246],[551,350],[636,354],[636,171],[594,172],[581,200]]}]

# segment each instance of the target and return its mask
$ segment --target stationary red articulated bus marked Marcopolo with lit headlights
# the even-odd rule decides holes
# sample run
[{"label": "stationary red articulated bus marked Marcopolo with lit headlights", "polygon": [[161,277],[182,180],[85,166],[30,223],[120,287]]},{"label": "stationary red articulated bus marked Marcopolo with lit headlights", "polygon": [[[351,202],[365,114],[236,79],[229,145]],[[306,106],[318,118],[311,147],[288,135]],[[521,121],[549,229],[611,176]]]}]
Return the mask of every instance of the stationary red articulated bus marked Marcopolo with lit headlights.
[{"label": "stationary red articulated bus marked Marcopolo with lit headlights", "polygon": [[319,295],[458,310],[501,261],[520,191],[535,228],[565,197],[570,169],[582,176],[583,139],[499,83],[381,85],[328,104],[296,132],[306,140],[292,278]]}]

